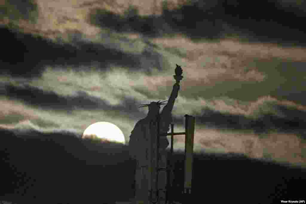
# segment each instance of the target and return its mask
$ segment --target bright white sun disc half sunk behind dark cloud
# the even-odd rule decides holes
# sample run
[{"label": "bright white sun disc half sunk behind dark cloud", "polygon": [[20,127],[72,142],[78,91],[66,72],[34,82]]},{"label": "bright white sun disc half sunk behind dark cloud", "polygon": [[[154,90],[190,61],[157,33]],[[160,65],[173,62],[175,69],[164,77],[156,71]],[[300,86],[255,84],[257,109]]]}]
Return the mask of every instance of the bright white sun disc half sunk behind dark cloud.
[{"label": "bright white sun disc half sunk behind dark cloud", "polygon": [[82,138],[86,138],[90,135],[95,135],[98,138],[106,139],[109,141],[123,144],[125,143],[124,135],[120,128],[109,122],[97,122],[89,125],[85,129]]}]

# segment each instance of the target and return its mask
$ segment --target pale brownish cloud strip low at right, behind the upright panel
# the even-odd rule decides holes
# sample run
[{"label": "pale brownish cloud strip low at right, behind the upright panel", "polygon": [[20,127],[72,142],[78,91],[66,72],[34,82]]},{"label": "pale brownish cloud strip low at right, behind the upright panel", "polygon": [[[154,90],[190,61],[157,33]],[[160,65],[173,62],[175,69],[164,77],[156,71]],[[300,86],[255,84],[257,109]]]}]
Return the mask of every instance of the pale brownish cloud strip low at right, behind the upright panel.
[{"label": "pale brownish cloud strip low at right, behind the upright panel", "polygon": [[[175,131],[178,132],[178,131]],[[174,149],[184,150],[185,138],[175,136]],[[241,154],[250,158],[290,162],[295,165],[305,163],[304,139],[290,133],[239,133],[230,130],[197,127],[194,151],[204,153]]]}]

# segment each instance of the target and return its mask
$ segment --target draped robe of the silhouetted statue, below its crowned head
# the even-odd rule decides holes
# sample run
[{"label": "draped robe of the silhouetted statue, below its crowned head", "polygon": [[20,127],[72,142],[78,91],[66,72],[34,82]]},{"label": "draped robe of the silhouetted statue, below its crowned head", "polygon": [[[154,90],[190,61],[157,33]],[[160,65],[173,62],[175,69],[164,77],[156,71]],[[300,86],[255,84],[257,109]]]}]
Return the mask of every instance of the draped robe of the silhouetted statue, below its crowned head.
[{"label": "draped robe of the silhouetted statue, below its crowned head", "polygon": [[[172,121],[171,113],[160,114],[159,124],[159,165],[158,168],[164,170],[159,171],[158,189],[159,199],[166,199],[166,184],[167,184],[167,155],[166,147],[169,142],[166,138],[166,133]],[[156,199],[156,148],[157,148],[157,119],[144,118],[138,121],[130,136],[132,156],[136,159],[136,199],[148,200],[150,191],[152,191],[151,198]],[[132,141],[131,141],[132,140]],[[132,144],[131,144],[132,142]],[[149,203],[149,202],[148,202]]]}]

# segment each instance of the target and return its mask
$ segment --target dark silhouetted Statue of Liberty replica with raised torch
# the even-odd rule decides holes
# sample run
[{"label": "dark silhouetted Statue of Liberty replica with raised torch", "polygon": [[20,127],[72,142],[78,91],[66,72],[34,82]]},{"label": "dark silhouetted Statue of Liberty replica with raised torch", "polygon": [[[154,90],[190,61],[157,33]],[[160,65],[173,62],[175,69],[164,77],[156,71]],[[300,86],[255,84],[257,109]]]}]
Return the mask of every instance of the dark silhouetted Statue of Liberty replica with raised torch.
[{"label": "dark silhouetted Statue of Liberty replica with raised torch", "polygon": [[[181,66],[176,65],[176,83],[168,101],[151,102],[145,118],[139,120],[130,135],[130,154],[136,160],[135,204],[164,204],[167,188],[167,152],[169,142],[166,134],[172,122],[172,109],[180,89]],[[160,106],[166,105],[161,113]]]}]

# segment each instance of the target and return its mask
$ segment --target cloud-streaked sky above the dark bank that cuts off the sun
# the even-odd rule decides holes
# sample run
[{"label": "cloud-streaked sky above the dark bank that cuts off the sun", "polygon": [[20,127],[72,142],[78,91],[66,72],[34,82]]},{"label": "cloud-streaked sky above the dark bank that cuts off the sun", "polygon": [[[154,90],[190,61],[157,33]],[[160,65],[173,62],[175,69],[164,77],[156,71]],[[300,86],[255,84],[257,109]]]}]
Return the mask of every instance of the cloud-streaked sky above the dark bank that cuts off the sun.
[{"label": "cloud-streaked sky above the dark bank that cuts off the sun", "polygon": [[[192,15],[185,16],[189,21],[169,23],[153,1],[140,2],[130,1],[139,12],[131,12],[129,21],[122,17],[127,2],[85,0],[37,1],[35,23],[2,18],[2,39],[13,49],[1,61],[0,128],[21,137],[81,138],[90,124],[105,121],[117,125],[128,144],[134,125],[148,112],[138,106],[169,98],[178,64],[184,78],[172,112],[174,132],[185,131],[185,114],[194,116],[196,153],[305,166],[306,50],[301,27],[294,24],[288,30],[272,20],[276,31],[292,31],[284,36],[275,31],[275,40],[258,30],[246,32],[243,23],[238,29],[238,20],[222,21],[218,27],[217,19],[212,34],[205,34],[211,24],[204,24],[204,36],[202,24],[188,27],[188,22],[197,25]],[[195,9],[171,5],[169,12],[178,19],[179,11]],[[9,22],[17,31],[9,29]],[[268,29],[270,24],[264,25]],[[235,35],[224,37],[221,30],[234,30]],[[214,32],[218,37],[211,37]],[[290,39],[296,41],[287,43]],[[176,136],[174,149],[183,150],[184,141]]]}]

